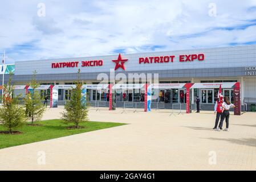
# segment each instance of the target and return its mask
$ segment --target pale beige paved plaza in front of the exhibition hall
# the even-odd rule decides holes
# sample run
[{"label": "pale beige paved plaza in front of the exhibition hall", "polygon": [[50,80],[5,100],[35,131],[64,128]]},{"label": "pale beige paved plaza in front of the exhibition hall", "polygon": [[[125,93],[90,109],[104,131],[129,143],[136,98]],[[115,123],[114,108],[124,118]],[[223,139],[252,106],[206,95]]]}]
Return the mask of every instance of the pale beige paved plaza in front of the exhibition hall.
[{"label": "pale beige paved plaza in front of the exhibition hall", "polygon": [[[63,107],[43,119],[59,118]],[[90,109],[91,121],[128,125],[3,148],[0,170],[255,170],[256,113],[230,116],[230,131],[214,131],[215,115],[170,110]],[[225,126],[225,124],[224,124]],[[45,164],[38,162],[45,154]]]}]

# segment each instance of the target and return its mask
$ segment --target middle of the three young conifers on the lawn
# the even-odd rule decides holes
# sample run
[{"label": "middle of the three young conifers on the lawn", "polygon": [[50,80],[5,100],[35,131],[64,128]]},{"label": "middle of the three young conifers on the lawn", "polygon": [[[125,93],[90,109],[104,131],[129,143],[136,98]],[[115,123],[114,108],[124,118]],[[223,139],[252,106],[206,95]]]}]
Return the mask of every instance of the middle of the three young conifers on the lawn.
[{"label": "middle of the three young conifers on the lawn", "polygon": [[39,86],[38,82],[36,82],[36,71],[33,72],[30,86],[32,90],[26,94],[24,101],[26,105],[26,116],[30,119],[31,125],[33,125],[34,121],[39,121],[43,117],[44,111],[46,111],[46,106],[42,103],[40,93],[36,90]]}]

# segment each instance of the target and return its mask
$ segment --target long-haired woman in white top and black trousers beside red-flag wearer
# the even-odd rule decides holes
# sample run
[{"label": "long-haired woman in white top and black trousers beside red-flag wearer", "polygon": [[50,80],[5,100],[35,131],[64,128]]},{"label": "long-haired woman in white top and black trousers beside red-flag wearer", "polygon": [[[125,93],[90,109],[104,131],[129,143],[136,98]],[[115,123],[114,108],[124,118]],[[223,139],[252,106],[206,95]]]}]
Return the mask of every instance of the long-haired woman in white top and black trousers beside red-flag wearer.
[{"label": "long-haired woman in white top and black trousers beside red-flag wearer", "polygon": [[226,129],[224,129],[224,131],[229,131],[229,109],[234,107],[235,105],[230,103],[229,97],[224,97],[224,102],[222,103],[221,122],[219,125],[219,127],[222,128],[223,121],[226,119]]}]

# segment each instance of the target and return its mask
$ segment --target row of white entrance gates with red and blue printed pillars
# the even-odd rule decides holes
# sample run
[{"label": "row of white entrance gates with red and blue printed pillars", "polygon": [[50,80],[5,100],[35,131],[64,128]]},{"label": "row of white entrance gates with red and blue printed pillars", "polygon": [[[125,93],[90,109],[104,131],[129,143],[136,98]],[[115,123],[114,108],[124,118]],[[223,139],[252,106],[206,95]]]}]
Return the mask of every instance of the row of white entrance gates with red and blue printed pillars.
[{"label": "row of white entrance gates with red and blue printed pillars", "polygon": [[[182,84],[87,84],[83,85],[83,94],[86,97],[87,89],[106,89],[109,94],[109,110],[112,110],[112,90],[117,89],[141,89],[144,94],[144,111],[151,111],[152,89],[186,89],[186,113],[190,113],[190,89],[214,89],[214,88],[234,89],[234,109],[235,115],[241,115],[240,82],[216,82],[216,83],[182,83]],[[50,89],[50,106],[58,106],[58,89],[72,89],[76,85],[40,85],[37,90]],[[32,89],[29,85],[15,85],[14,89],[26,89],[26,93]],[[54,100],[54,101],[52,101]],[[56,104],[57,103],[57,104]]]}]

